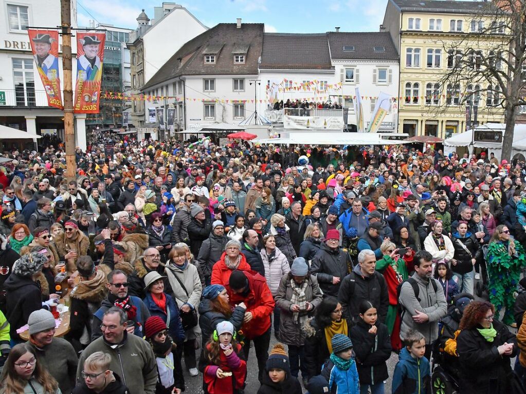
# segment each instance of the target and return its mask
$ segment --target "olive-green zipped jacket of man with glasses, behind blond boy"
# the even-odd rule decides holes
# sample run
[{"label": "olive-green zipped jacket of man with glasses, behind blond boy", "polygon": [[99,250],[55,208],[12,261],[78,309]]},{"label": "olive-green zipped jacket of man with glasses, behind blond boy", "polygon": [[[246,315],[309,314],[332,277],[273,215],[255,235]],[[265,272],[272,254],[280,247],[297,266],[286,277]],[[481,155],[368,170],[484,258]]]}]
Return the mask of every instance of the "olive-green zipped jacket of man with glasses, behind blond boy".
[{"label": "olive-green zipped jacket of man with glasses, behind blond boy", "polygon": [[142,338],[128,335],[124,331],[124,339],[118,345],[109,344],[104,337],[95,339],[82,352],[78,360],[77,381],[82,381],[81,373],[84,361],[96,351],[109,353],[112,362],[109,369],[117,372],[124,385],[129,387],[129,394],[155,394],[157,384],[157,365],[154,351]]}]

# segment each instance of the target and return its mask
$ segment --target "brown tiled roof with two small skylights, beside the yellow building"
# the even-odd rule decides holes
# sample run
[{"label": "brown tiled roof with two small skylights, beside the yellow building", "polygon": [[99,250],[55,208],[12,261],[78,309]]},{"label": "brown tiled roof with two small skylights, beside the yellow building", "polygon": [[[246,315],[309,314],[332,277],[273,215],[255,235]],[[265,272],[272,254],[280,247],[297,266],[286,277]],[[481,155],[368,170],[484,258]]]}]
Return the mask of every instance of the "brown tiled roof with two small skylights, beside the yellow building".
[{"label": "brown tiled roof with two small skylights, beside the yellow building", "polygon": [[[330,54],[333,59],[398,59],[397,50],[388,32],[329,32]],[[343,47],[354,50],[343,50]],[[374,48],[384,51],[375,51]],[[350,49],[350,48],[349,48]]]}]

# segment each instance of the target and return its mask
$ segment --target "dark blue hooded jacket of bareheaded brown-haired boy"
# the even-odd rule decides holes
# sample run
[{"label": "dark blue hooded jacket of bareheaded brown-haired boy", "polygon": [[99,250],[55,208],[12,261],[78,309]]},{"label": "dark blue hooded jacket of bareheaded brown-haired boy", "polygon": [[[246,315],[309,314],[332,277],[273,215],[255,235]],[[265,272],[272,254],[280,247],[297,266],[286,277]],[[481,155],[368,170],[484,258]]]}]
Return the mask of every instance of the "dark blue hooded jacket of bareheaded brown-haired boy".
[{"label": "dark blue hooded jacket of bareheaded brown-haired boy", "polygon": [[426,357],[413,358],[406,347],[393,373],[393,394],[431,394],[431,373]]}]

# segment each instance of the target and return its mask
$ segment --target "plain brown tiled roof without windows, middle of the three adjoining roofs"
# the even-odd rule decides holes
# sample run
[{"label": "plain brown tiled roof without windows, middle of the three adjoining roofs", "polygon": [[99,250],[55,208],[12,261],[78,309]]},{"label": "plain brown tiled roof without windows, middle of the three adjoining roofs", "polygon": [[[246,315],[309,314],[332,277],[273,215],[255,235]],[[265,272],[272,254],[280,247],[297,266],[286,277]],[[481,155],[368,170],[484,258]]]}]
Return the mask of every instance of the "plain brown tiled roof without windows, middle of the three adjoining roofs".
[{"label": "plain brown tiled roof without windows, middle of the three adjoining roofs", "polygon": [[261,69],[333,69],[327,34],[265,33]]}]

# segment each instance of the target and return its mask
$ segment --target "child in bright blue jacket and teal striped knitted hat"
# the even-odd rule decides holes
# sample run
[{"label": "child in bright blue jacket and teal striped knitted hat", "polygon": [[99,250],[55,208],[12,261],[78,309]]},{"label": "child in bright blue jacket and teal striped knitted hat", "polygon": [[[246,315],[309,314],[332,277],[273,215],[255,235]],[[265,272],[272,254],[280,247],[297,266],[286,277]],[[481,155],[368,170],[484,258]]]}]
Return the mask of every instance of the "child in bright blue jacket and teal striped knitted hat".
[{"label": "child in bright blue jacket and teal striped knitted hat", "polygon": [[329,382],[330,394],[359,394],[360,380],[352,359],[351,340],[346,335],[336,334],[330,343],[332,352],[321,370],[321,376]]}]

